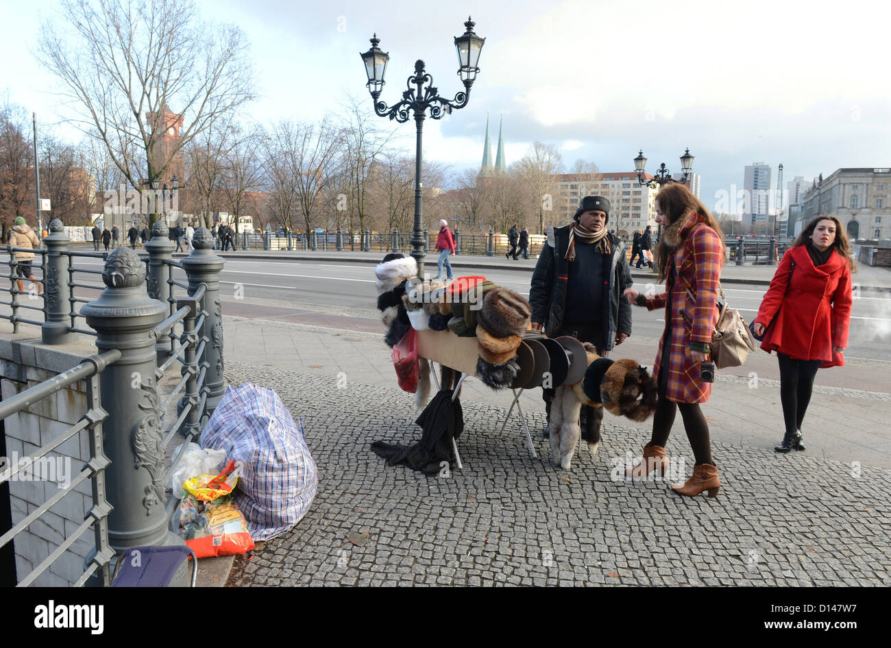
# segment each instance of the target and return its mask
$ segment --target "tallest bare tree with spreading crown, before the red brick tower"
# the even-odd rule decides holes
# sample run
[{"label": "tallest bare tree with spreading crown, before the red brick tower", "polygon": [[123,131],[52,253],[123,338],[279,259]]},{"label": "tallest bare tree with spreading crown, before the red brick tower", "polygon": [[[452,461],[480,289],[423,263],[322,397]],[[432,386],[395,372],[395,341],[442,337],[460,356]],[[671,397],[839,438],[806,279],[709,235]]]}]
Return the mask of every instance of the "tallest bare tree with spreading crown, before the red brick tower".
[{"label": "tallest bare tree with spreading crown, before the red brick tower", "polygon": [[61,19],[42,24],[37,58],[134,188],[253,99],[241,29],[201,21],[189,0],[61,0]]}]

